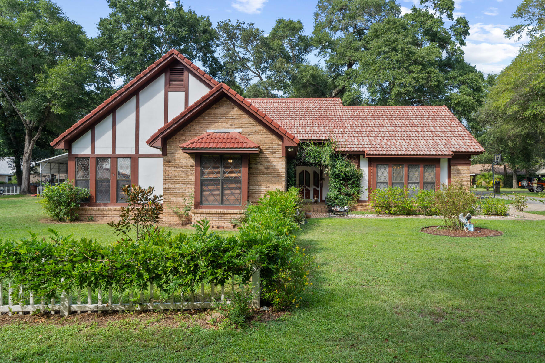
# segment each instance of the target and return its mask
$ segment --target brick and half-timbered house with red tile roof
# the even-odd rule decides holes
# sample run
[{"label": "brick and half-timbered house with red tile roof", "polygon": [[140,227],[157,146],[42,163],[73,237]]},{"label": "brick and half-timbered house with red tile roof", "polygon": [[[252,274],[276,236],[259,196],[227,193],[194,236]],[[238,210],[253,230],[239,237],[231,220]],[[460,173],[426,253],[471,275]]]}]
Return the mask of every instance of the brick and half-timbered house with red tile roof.
[{"label": "brick and half-timbered house with red tile roof", "polygon": [[[244,99],[175,50],[169,51],[51,145],[69,152],[68,178],[91,190],[80,216],[118,217],[122,186],[154,186],[167,207],[195,195],[192,221],[229,226],[246,202],[286,189],[301,141],[335,138],[364,171],[368,190],[469,187],[482,146],[445,106],[345,107],[340,99]],[[297,167],[305,199],[324,201],[328,176]],[[175,223],[165,208],[164,223]]]}]

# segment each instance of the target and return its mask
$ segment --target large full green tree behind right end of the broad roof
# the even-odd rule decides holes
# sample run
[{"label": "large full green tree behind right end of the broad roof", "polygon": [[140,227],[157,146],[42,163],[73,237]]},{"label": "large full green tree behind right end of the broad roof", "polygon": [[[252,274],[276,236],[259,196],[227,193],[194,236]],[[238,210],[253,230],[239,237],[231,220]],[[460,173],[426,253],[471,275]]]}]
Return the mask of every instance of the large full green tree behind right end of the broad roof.
[{"label": "large full green tree behind right end of the broad roof", "polygon": [[[468,21],[453,19],[452,0],[421,4],[371,24],[354,83],[367,89],[369,104],[445,104],[459,119],[473,121],[485,97],[485,78],[464,61]],[[450,27],[443,17],[453,21]]]}]

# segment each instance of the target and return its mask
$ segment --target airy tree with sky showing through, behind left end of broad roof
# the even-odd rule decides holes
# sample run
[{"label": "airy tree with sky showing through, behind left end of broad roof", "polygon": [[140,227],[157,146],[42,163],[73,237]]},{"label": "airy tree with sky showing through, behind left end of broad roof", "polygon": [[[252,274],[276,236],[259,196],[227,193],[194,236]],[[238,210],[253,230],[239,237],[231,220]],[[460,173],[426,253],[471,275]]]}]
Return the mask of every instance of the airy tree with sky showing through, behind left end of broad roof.
[{"label": "airy tree with sky showing through, behind left end of broad roof", "polygon": [[268,34],[253,23],[218,23],[222,78],[240,85],[246,97],[319,97],[329,91],[329,78],[307,60],[310,37],[301,21],[278,19]]}]

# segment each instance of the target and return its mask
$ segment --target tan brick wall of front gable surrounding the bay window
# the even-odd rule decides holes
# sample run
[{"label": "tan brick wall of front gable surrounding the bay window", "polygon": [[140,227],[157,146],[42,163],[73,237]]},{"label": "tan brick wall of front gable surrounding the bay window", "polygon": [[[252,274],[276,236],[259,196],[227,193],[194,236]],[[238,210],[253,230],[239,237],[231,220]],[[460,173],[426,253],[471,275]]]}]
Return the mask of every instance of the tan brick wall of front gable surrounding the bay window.
[{"label": "tan brick wall of front gable surrounding the bay window", "polygon": [[[179,145],[207,130],[236,129],[241,129],[244,136],[262,149],[261,153],[251,154],[249,158],[250,202],[256,202],[268,190],[286,188],[286,158],[282,156],[282,140],[231,101],[222,99],[167,141],[167,155],[163,159],[165,210],[161,218],[162,223],[178,223],[178,218],[168,207],[183,207],[184,198],[189,198],[190,194],[195,192],[195,155],[181,151]],[[212,214],[206,215],[210,220],[215,218],[216,222],[213,224],[230,226],[226,221],[236,213],[216,212],[217,217],[212,217]],[[227,215],[229,216],[226,217]],[[196,218],[202,219],[193,216],[192,220],[198,220]]]}]

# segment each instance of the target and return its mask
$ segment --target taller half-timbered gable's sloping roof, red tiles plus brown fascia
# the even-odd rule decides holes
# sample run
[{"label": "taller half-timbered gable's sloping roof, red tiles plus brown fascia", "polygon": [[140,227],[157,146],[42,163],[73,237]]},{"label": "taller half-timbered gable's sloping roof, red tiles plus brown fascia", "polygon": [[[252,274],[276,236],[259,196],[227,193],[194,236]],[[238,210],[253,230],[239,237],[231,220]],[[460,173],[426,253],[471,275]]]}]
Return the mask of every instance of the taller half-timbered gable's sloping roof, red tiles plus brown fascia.
[{"label": "taller half-timbered gable's sloping roof, red tiles plus brown fascia", "polygon": [[147,67],[142,73],[140,73],[140,75],[136,76],[129,83],[120,88],[116,93],[111,95],[106,101],[102,102],[84,118],[77,121],[68,130],[60,134],[59,137],[52,141],[51,146],[53,146],[55,149],[67,149],[68,145],[66,144],[66,141],[86,132],[90,125],[104,116],[107,116],[108,112],[110,112],[115,106],[132,96],[133,91],[137,90],[141,85],[150,79],[153,79],[156,75],[158,75],[158,73],[164,70],[166,66],[175,60],[178,60],[189,67],[193,73],[195,73],[197,77],[201,79],[201,81],[209,84],[210,87],[215,87],[217,84],[219,84],[214,78],[207,75],[207,73],[199,69],[199,67],[193,64],[189,59],[185,58],[183,54],[175,49],[172,49],[164,56],[156,60],[152,65]]}]

